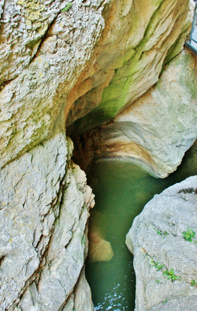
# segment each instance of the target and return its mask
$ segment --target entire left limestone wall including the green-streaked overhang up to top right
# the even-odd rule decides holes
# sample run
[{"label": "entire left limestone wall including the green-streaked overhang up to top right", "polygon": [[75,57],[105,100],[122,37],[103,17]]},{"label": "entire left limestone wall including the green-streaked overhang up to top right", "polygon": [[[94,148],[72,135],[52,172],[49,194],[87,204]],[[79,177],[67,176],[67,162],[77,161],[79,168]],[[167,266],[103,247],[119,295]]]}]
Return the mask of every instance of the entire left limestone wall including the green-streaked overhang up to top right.
[{"label": "entire left limestone wall including the green-streaked overhang up to top right", "polygon": [[92,310],[84,260],[94,199],[70,160],[66,119],[99,105],[74,125],[85,131],[147,91],[181,51],[192,3],[0,0],[1,311],[84,311],[84,301]]}]

